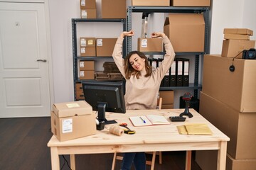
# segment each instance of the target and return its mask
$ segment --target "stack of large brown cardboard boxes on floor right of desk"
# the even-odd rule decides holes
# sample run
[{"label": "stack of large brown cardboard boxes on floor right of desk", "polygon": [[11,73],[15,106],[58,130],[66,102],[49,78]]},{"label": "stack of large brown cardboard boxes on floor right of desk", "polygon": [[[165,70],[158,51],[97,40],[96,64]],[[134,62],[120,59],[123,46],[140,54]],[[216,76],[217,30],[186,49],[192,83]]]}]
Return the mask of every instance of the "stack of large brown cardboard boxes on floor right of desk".
[{"label": "stack of large brown cardboard boxes on floor right of desk", "polygon": [[[238,51],[233,57],[205,55],[200,113],[230,137],[226,169],[252,170],[256,169],[256,60],[234,59],[236,55]],[[196,162],[203,170],[216,169],[217,152],[197,151]]]}]

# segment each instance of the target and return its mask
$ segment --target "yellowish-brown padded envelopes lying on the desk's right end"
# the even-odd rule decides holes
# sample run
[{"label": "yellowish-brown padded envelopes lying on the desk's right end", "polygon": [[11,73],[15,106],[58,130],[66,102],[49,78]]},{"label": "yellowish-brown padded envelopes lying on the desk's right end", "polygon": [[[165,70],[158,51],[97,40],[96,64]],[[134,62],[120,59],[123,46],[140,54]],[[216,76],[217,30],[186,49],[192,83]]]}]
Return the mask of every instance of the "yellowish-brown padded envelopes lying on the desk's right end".
[{"label": "yellowish-brown padded envelopes lying on the desk's right end", "polygon": [[177,126],[178,132],[181,135],[213,135],[213,132],[208,128],[208,125],[201,123],[193,123]]}]

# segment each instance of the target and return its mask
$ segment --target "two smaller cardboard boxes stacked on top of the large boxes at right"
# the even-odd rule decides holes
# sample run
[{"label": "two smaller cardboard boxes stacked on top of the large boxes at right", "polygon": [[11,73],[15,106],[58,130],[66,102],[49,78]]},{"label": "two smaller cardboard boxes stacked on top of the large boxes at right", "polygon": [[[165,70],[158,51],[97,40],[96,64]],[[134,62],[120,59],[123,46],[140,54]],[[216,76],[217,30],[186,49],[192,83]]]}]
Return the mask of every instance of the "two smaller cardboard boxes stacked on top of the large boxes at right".
[{"label": "two smaller cardboard boxes stacked on top of the large boxes at right", "polygon": [[225,28],[221,56],[242,58],[242,50],[255,47],[255,40],[250,40],[253,31],[246,28]]}]

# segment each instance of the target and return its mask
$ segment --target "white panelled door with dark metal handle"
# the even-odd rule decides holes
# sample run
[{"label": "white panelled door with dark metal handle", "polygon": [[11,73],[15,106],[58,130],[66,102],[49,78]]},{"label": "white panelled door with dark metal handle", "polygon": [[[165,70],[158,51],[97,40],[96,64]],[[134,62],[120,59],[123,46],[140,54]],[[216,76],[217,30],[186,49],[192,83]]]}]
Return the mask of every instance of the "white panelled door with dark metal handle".
[{"label": "white panelled door with dark metal handle", "polygon": [[0,2],[0,118],[50,115],[43,3]]}]

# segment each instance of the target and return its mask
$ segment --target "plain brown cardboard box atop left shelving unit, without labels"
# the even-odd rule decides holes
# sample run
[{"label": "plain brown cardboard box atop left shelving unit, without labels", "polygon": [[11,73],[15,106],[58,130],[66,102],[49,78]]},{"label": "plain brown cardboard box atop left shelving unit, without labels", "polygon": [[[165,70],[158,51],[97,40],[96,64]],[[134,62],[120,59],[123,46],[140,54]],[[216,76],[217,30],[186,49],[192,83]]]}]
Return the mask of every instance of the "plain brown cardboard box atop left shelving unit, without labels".
[{"label": "plain brown cardboard box atop left shelving unit, without labels", "polygon": [[102,0],[102,18],[126,17],[126,0]]}]

